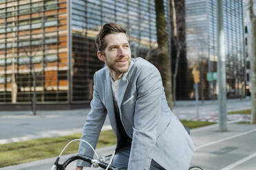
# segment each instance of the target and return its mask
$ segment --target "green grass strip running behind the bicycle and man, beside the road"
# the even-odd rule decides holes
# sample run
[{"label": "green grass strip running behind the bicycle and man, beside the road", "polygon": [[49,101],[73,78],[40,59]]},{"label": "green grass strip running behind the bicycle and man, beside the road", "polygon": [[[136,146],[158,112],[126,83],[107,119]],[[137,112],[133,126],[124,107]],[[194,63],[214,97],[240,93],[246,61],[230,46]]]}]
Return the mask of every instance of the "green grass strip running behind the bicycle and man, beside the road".
[{"label": "green grass strip running behind the bicycle and man, beside the road", "polygon": [[[191,129],[213,124],[206,121],[182,121],[182,123]],[[39,138],[18,143],[2,144],[0,145],[0,167],[58,156],[67,143],[80,137],[81,134],[73,134],[56,138]],[[113,131],[107,130],[100,133],[97,148],[115,144],[116,136]],[[76,153],[78,145],[78,142],[70,144],[63,154]]]}]

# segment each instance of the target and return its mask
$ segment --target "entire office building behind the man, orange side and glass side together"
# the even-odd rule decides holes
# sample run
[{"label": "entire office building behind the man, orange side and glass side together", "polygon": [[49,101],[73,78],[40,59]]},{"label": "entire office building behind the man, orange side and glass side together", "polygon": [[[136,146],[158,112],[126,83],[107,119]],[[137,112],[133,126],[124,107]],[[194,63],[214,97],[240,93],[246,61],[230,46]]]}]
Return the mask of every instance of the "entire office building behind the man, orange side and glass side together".
[{"label": "entire office building behind the man, orange side and glass side together", "polygon": [[132,57],[153,60],[155,20],[153,0],[0,0],[0,104],[30,104],[34,90],[38,104],[89,104],[100,25],[124,25]]}]

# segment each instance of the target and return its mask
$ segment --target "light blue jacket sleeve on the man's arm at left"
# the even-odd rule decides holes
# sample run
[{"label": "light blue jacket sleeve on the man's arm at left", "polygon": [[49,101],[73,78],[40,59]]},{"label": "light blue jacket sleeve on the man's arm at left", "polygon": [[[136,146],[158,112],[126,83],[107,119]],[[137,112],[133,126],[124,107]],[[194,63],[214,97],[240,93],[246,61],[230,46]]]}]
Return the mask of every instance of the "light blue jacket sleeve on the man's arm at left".
[{"label": "light blue jacket sleeve on the man's arm at left", "polygon": [[[90,103],[91,110],[87,114],[85,125],[83,127],[83,134],[81,138],[96,147],[98,143],[98,137],[100,135],[101,128],[106,118],[107,111],[103,105],[100,95],[96,87],[96,74],[94,75],[94,93],[92,101]],[[94,156],[94,151],[89,145],[84,142],[81,142],[78,149],[78,154],[83,154],[89,157]],[[80,167],[89,167],[89,163],[84,162],[83,160],[78,160],[76,163]]]}]

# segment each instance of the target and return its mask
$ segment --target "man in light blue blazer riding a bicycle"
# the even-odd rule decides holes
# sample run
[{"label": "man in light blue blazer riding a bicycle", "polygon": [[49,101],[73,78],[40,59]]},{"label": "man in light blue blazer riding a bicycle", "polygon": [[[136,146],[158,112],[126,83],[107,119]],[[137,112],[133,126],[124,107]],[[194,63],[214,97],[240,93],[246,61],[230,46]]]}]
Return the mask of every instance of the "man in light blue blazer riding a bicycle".
[{"label": "man in light blue blazer riding a bicycle", "polygon": [[[94,75],[91,110],[81,138],[95,147],[108,114],[118,141],[112,165],[129,170],[189,169],[194,145],[167,105],[158,69],[142,58],[131,59],[126,29],[115,23],[103,26],[96,47],[106,66]],[[85,143],[78,153],[93,156]],[[76,169],[85,166],[79,160]]]}]

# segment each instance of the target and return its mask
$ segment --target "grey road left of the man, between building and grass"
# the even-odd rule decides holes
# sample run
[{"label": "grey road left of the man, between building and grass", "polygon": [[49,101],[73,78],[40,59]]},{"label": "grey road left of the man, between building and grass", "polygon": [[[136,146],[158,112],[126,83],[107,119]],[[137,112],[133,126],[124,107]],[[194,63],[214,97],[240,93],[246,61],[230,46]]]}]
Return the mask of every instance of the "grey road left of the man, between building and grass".
[{"label": "grey road left of the man, between building and grass", "polygon": [[[0,113],[0,144],[81,132],[89,109]],[[109,119],[105,121],[109,125]]]}]

